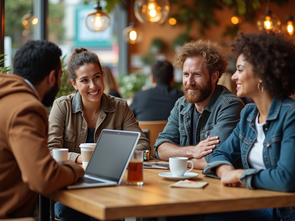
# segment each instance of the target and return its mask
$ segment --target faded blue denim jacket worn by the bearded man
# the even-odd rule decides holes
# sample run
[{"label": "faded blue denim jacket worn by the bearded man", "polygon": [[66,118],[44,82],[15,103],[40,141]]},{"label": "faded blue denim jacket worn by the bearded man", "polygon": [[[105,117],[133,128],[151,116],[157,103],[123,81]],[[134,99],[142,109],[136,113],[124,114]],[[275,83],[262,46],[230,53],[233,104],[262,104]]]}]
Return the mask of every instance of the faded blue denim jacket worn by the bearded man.
[{"label": "faded blue denim jacket worn by the bearded man", "polygon": [[[165,142],[180,146],[190,145],[193,128],[192,117],[195,104],[188,103],[183,97],[179,98],[171,110],[168,123],[156,140],[154,150],[158,159],[157,148]],[[207,139],[210,135],[219,136],[220,142],[227,139],[240,120],[240,112],[244,103],[240,98],[231,93],[226,87],[216,85],[215,91],[208,105],[201,113],[196,129],[196,142]],[[219,144],[216,145],[217,149]],[[209,162],[212,153],[205,156]]]}]

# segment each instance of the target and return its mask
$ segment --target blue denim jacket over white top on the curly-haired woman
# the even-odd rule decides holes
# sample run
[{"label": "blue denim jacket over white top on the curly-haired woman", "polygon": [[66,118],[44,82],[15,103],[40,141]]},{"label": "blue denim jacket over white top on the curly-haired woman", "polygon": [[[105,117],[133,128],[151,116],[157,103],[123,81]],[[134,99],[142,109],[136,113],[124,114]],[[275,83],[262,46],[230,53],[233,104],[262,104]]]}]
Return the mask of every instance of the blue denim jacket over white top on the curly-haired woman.
[{"label": "blue denim jacket over white top on the curly-haired woman", "polygon": [[[249,189],[269,189],[283,192],[295,191],[295,100],[274,97],[266,124],[263,126],[263,161],[265,170],[251,168],[247,154],[257,137],[255,118],[258,109],[248,104],[241,112],[241,120],[230,137],[214,151],[203,174],[216,177],[215,168],[232,165],[242,156],[244,173],[241,181]],[[283,220],[295,220],[295,207],[280,208]]]}]

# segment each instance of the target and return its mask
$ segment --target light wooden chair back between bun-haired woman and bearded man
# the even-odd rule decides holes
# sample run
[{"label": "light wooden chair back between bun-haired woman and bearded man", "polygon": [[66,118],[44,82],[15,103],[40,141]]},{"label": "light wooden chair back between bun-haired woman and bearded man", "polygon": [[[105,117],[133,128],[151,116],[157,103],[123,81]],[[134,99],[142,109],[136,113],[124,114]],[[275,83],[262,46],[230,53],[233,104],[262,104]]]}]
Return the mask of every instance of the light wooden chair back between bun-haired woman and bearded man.
[{"label": "light wooden chair back between bun-haired woman and bearded man", "polygon": [[154,156],[154,145],[156,139],[164,130],[164,127],[168,121],[138,121],[140,129],[147,133],[148,139],[150,141],[150,147],[152,148],[151,156]]}]

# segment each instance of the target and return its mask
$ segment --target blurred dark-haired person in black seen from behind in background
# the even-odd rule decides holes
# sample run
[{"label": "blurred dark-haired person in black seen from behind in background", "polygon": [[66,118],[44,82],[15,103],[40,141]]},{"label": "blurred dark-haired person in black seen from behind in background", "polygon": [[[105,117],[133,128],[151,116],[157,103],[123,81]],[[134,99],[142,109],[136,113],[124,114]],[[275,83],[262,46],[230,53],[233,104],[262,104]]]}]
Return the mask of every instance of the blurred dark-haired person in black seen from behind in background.
[{"label": "blurred dark-haired person in black seen from behind in background", "polygon": [[153,88],[135,93],[130,105],[137,121],[168,120],[170,111],[183,93],[173,88],[173,66],[168,61],[152,65]]}]

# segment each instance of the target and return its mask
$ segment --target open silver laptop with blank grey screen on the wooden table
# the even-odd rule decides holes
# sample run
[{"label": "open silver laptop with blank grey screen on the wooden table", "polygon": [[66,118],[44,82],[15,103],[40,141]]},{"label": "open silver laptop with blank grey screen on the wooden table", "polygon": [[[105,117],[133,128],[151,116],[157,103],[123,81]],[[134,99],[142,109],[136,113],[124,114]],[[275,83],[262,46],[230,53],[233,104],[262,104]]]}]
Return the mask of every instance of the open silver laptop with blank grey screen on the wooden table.
[{"label": "open silver laptop with blank grey screen on the wooden table", "polygon": [[84,177],[68,189],[119,185],[135,150],[140,133],[103,129]]}]

